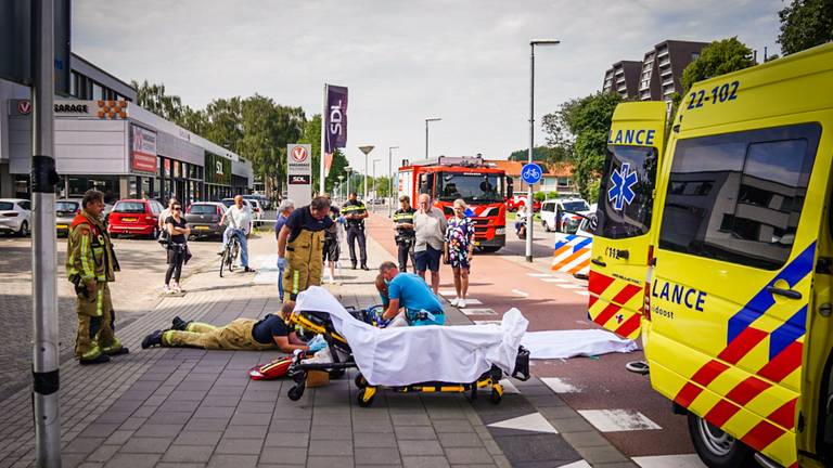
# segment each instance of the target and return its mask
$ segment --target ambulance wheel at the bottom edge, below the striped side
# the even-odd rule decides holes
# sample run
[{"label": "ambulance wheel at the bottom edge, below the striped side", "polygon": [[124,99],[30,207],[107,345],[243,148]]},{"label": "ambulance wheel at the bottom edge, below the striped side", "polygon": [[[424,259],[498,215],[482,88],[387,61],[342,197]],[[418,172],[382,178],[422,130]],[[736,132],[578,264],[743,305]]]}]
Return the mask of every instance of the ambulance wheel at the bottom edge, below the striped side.
[{"label": "ambulance wheel at the bottom edge, below the striped side", "polygon": [[709,468],[755,467],[755,453],[743,442],[689,413],[689,434],[697,455]]}]

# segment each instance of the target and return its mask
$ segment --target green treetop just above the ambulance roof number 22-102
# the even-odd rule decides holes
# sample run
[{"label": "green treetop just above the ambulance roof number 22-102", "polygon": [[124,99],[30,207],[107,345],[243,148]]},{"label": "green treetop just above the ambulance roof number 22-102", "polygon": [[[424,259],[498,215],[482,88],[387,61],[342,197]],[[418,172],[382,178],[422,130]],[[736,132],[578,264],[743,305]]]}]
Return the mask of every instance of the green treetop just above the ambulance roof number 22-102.
[{"label": "green treetop just above the ambulance roof number 22-102", "polygon": [[714,41],[703,48],[697,60],[682,70],[682,92],[680,98],[691,89],[696,81],[738,72],[755,65],[752,49],[739,41],[736,37]]}]

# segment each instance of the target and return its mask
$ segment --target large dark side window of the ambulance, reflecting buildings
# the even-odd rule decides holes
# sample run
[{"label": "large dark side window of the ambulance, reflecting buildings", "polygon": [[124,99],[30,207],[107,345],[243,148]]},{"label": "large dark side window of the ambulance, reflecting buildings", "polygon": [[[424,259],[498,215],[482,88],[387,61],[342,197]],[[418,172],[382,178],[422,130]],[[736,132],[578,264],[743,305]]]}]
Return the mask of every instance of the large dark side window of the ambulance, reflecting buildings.
[{"label": "large dark side window of the ambulance, reflecting buildings", "polygon": [[795,242],[820,132],[800,125],[678,142],[659,247],[781,268]]}]

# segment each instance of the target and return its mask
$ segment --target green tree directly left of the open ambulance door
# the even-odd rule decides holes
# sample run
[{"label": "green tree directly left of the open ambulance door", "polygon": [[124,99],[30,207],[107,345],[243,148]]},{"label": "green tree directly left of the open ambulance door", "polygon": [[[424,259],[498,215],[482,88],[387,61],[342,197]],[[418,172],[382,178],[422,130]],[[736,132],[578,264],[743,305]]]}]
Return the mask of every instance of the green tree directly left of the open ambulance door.
[{"label": "green tree directly left of the open ambulance door", "polygon": [[613,112],[620,102],[616,93],[598,92],[567,101],[543,117],[547,142],[573,156],[576,184],[587,199],[598,195],[593,187],[598,191],[595,181],[607,154]]}]

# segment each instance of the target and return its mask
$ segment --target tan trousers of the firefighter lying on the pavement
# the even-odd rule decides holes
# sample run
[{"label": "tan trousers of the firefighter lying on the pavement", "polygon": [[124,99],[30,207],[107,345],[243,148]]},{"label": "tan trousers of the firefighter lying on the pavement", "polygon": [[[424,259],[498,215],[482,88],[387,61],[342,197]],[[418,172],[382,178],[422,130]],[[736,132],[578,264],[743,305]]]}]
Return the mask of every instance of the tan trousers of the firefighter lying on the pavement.
[{"label": "tan trousers of the firefighter lying on the pavement", "polygon": [[207,350],[264,351],[278,348],[277,343],[264,344],[252,336],[254,318],[238,318],[223,327],[191,322],[185,332],[167,330],[162,334],[164,347],[188,347]]}]

